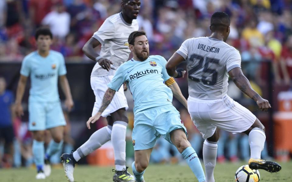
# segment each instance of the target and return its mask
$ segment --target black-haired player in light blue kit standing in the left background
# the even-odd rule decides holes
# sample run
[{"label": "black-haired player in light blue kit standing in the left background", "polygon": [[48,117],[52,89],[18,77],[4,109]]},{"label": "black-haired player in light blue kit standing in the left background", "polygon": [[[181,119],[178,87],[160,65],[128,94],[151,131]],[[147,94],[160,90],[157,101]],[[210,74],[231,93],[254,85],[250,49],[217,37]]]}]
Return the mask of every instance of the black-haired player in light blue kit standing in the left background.
[{"label": "black-haired player in light blue kit standing in the left background", "polygon": [[[73,106],[64,57],[61,53],[50,50],[52,37],[49,29],[40,28],[36,31],[37,51],[24,58],[16,93],[16,114],[20,117],[23,115],[21,101],[27,78],[30,76],[29,130],[33,133],[33,156],[38,172],[36,179],[45,179],[50,175],[49,158],[63,145],[66,122],[58,93],[58,78],[66,96],[65,105],[68,110],[71,110]],[[44,151],[45,130],[49,130],[53,138],[47,147],[46,154]]]}]

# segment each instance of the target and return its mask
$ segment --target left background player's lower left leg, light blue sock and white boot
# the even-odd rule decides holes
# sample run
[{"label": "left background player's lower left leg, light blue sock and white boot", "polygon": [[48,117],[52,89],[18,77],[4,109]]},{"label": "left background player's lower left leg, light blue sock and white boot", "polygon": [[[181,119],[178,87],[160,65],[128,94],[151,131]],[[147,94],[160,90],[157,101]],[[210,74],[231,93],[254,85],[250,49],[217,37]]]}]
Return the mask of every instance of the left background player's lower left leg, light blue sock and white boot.
[{"label": "left background player's lower left leg, light blue sock and white boot", "polygon": [[45,179],[46,175],[43,173],[44,153],[45,147],[43,141],[33,140],[33,157],[36,164],[37,174],[36,179]]}]

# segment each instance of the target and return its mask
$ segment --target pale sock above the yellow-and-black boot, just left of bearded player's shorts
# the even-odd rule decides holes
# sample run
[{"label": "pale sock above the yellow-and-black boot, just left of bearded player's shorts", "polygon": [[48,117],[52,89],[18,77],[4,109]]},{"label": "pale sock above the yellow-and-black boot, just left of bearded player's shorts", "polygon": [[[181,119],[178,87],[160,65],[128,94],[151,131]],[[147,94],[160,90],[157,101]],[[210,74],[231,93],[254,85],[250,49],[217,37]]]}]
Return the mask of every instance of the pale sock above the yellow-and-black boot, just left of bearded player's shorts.
[{"label": "pale sock above the yellow-and-black boot, just left of bearded player's shorts", "polygon": [[112,144],[115,154],[116,170],[126,169],[126,130],[127,123],[124,121],[116,121],[113,123]]}]

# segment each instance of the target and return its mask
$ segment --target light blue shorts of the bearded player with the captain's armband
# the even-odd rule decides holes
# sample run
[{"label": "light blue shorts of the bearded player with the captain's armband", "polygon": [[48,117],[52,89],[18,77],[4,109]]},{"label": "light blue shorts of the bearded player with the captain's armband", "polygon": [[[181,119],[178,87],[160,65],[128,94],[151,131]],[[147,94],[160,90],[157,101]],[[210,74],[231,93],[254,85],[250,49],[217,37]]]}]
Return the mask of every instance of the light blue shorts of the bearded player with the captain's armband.
[{"label": "light blue shorts of the bearded player with the captain's armband", "polygon": [[170,132],[182,128],[186,135],[186,127],[180,120],[179,112],[172,105],[154,107],[134,115],[132,142],[134,150],[153,148],[157,139],[163,136],[170,140]]}]

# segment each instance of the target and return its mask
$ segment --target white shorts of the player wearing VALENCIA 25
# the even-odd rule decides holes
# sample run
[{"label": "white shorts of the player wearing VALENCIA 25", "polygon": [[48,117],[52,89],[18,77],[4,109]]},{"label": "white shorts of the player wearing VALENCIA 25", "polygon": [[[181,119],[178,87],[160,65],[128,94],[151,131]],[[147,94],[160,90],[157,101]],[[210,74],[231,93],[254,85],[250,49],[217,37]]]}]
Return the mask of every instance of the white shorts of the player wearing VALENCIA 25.
[{"label": "white shorts of the player wearing VALENCIA 25", "polygon": [[229,96],[216,100],[188,98],[188,111],[204,139],[212,136],[216,127],[232,133],[242,133],[255,122],[255,115]]}]

